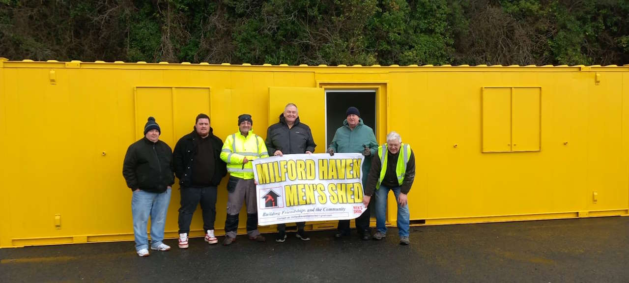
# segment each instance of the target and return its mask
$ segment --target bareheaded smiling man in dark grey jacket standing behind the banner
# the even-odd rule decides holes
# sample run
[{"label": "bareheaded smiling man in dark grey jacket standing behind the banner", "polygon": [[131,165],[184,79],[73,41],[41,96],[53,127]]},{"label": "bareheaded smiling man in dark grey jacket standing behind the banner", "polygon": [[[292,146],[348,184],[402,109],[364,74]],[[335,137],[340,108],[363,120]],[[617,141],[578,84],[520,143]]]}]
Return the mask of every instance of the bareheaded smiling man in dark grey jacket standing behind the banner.
[{"label": "bareheaded smiling man in dark grey jacket standing behind the banner", "polygon": [[[284,113],[279,115],[279,123],[271,125],[267,130],[265,141],[269,154],[282,156],[283,154],[313,153],[315,141],[308,125],[299,122],[298,110],[295,104],[289,103]],[[310,238],[304,231],[305,222],[298,222],[296,237],[308,241]],[[277,242],[286,240],[286,224],[277,225]]]}]

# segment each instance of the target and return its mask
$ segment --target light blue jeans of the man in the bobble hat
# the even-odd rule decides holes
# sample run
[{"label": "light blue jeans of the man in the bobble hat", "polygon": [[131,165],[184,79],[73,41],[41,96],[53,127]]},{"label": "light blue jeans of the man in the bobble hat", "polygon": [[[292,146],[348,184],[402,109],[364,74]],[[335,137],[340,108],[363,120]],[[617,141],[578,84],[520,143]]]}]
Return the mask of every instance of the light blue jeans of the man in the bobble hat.
[{"label": "light blue jeans of the man in the bobble hat", "polygon": [[151,245],[157,247],[162,243],[169,203],[170,189],[166,189],[161,194],[142,190],[133,192],[131,213],[133,214],[133,234],[135,235],[136,251],[148,248],[148,216],[151,217]]}]

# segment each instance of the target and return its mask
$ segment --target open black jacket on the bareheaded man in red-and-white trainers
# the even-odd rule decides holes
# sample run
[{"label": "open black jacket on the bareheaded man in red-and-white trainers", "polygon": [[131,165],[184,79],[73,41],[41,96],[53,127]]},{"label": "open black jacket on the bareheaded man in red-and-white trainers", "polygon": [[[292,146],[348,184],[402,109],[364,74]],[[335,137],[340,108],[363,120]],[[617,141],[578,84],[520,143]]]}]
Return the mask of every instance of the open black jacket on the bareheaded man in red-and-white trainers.
[{"label": "open black jacket on the bareheaded man in red-and-white trainers", "polygon": [[[223,148],[223,141],[217,136],[214,136],[213,129],[209,128],[209,136],[207,138],[212,142],[212,148],[214,150],[214,173],[212,175],[212,186],[218,186],[221,179],[227,174],[227,165],[221,160],[221,148]],[[173,152],[173,164],[175,169],[175,175],[179,178],[179,185],[181,187],[190,187],[192,185],[192,165],[194,164],[194,156],[196,155],[196,146],[194,141],[201,138],[196,130],[192,130],[185,136],[182,136],[175,145],[175,151]],[[211,174],[211,172],[208,172]]]}]

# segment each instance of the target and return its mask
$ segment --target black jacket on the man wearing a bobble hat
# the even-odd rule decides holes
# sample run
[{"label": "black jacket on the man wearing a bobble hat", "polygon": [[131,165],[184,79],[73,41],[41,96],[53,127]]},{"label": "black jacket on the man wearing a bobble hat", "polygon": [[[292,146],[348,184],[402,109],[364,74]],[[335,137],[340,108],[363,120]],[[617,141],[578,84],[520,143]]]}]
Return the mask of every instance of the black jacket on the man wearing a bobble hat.
[{"label": "black jacket on the man wearing a bobble hat", "polygon": [[162,193],[175,183],[172,175],[172,150],[160,140],[156,143],[144,137],[126,150],[122,166],[126,186],[131,190]]}]

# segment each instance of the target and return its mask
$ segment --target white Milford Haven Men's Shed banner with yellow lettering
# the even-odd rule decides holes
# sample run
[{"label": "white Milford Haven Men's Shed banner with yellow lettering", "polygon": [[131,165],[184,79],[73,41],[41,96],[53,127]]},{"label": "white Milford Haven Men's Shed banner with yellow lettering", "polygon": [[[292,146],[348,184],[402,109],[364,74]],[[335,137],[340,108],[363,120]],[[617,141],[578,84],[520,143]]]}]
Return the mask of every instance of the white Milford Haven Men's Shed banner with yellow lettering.
[{"label": "white Milford Haven Men's Shed banner with yellow lettering", "polygon": [[360,153],[287,154],[252,161],[258,224],[354,219],[362,204]]}]

